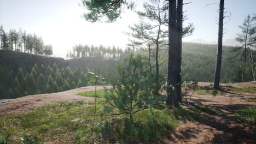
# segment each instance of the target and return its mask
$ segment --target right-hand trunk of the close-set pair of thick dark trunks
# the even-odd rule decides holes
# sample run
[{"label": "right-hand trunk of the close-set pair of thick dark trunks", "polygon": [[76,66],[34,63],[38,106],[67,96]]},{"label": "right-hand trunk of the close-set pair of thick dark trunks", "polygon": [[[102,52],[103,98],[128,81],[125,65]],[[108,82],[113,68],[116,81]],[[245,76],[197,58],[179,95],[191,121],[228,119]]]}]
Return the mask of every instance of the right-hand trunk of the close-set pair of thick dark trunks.
[{"label": "right-hand trunk of the close-set pair of thick dark trunks", "polygon": [[177,5],[177,97],[178,101],[182,101],[182,32],[183,32],[183,0],[178,1]]}]

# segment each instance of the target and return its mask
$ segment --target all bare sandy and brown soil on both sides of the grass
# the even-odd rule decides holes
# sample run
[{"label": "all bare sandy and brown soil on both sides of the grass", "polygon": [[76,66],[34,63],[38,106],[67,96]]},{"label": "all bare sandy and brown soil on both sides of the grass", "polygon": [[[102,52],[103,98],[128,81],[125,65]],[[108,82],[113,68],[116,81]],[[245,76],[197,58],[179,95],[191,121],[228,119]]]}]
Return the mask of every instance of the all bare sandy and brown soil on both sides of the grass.
[{"label": "all bare sandy and brown soil on both sides of the grass", "polygon": [[[211,83],[199,82],[199,86]],[[235,111],[243,107],[256,106],[256,93],[241,92],[237,88],[254,87],[253,82],[221,84],[222,91],[216,97],[205,91],[198,91],[192,97],[193,104],[201,104],[220,110],[219,113],[202,112],[196,122],[181,122],[160,143],[256,143],[256,125],[240,124]],[[64,100],[92,101],[93,97],[74,95],[80,92],[94,91],[94,86],[72,89],[52,94],[28,95],[0,104],[0,117],[24,113],[45,104]],[[103,86],[97,86],[102,89]],[[191,91],[191,90],[190,90]],[[191,105],[185,105],[190,109]]]}]

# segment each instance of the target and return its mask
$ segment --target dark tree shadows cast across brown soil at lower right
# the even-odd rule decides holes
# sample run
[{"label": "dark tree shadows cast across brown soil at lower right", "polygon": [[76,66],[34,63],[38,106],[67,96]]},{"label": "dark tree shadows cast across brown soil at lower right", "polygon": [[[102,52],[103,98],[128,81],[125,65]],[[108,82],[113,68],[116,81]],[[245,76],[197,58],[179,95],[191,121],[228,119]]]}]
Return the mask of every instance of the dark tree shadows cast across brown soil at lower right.
[{"label": "dark tree shadows cast across brown soil at lower right", "polygon": [[[200,102],[207,100],[196,98],[193,99],[193,101]],[[208,129],[206,131],[212,131],[211,133],[214,134],[213,139],[204,140],[202,143],[256,143],[256,125],[242,125],[234,115],[236,110],[253,105],[234,104],[229,106],[211,104],[207,106],[216,108],[222,112],[213,115],[201,113],[200,119],[197,122],[203,125],[208,125],[210,128],[206,127]],[[178,134],[172,133],[172,136],[167,137],[167,139],[171,141],[174,141],[174,139],[189,140],[198,137],[198,135],[204,133],[204,131],[205,130],[202,131],[200,128],[196,127],[187,127],[184,128],[184,130],[180,130]],[[207,135],[205,137],[207,137]],[[203,137],[202,139],[205,138]]]}]

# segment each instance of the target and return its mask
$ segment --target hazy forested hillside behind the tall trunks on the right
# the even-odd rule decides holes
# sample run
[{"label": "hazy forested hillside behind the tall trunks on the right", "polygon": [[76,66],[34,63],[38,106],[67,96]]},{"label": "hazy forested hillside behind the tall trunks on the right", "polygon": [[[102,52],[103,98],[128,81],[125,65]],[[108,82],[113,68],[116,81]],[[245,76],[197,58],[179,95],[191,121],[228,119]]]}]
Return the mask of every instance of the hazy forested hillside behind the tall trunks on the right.
[{"label": "hazy forested hillside behind the tall trunks on the right", "polygon": [[[236,55],[230,52],[232,46],[223,46],[221,82],[240,82],[241,65],[240,57],[231,58]],[[213,82],[216,67],[217,45],[183,43],[182,45],[182,73],[190,79],[197,81]],[[166,61],[168,51],[163,50],[160,58]],[[161,74],[167,73],[167,63],[162,64]],[[253,81],[251,69],[246,69],[246,81]]]}]

